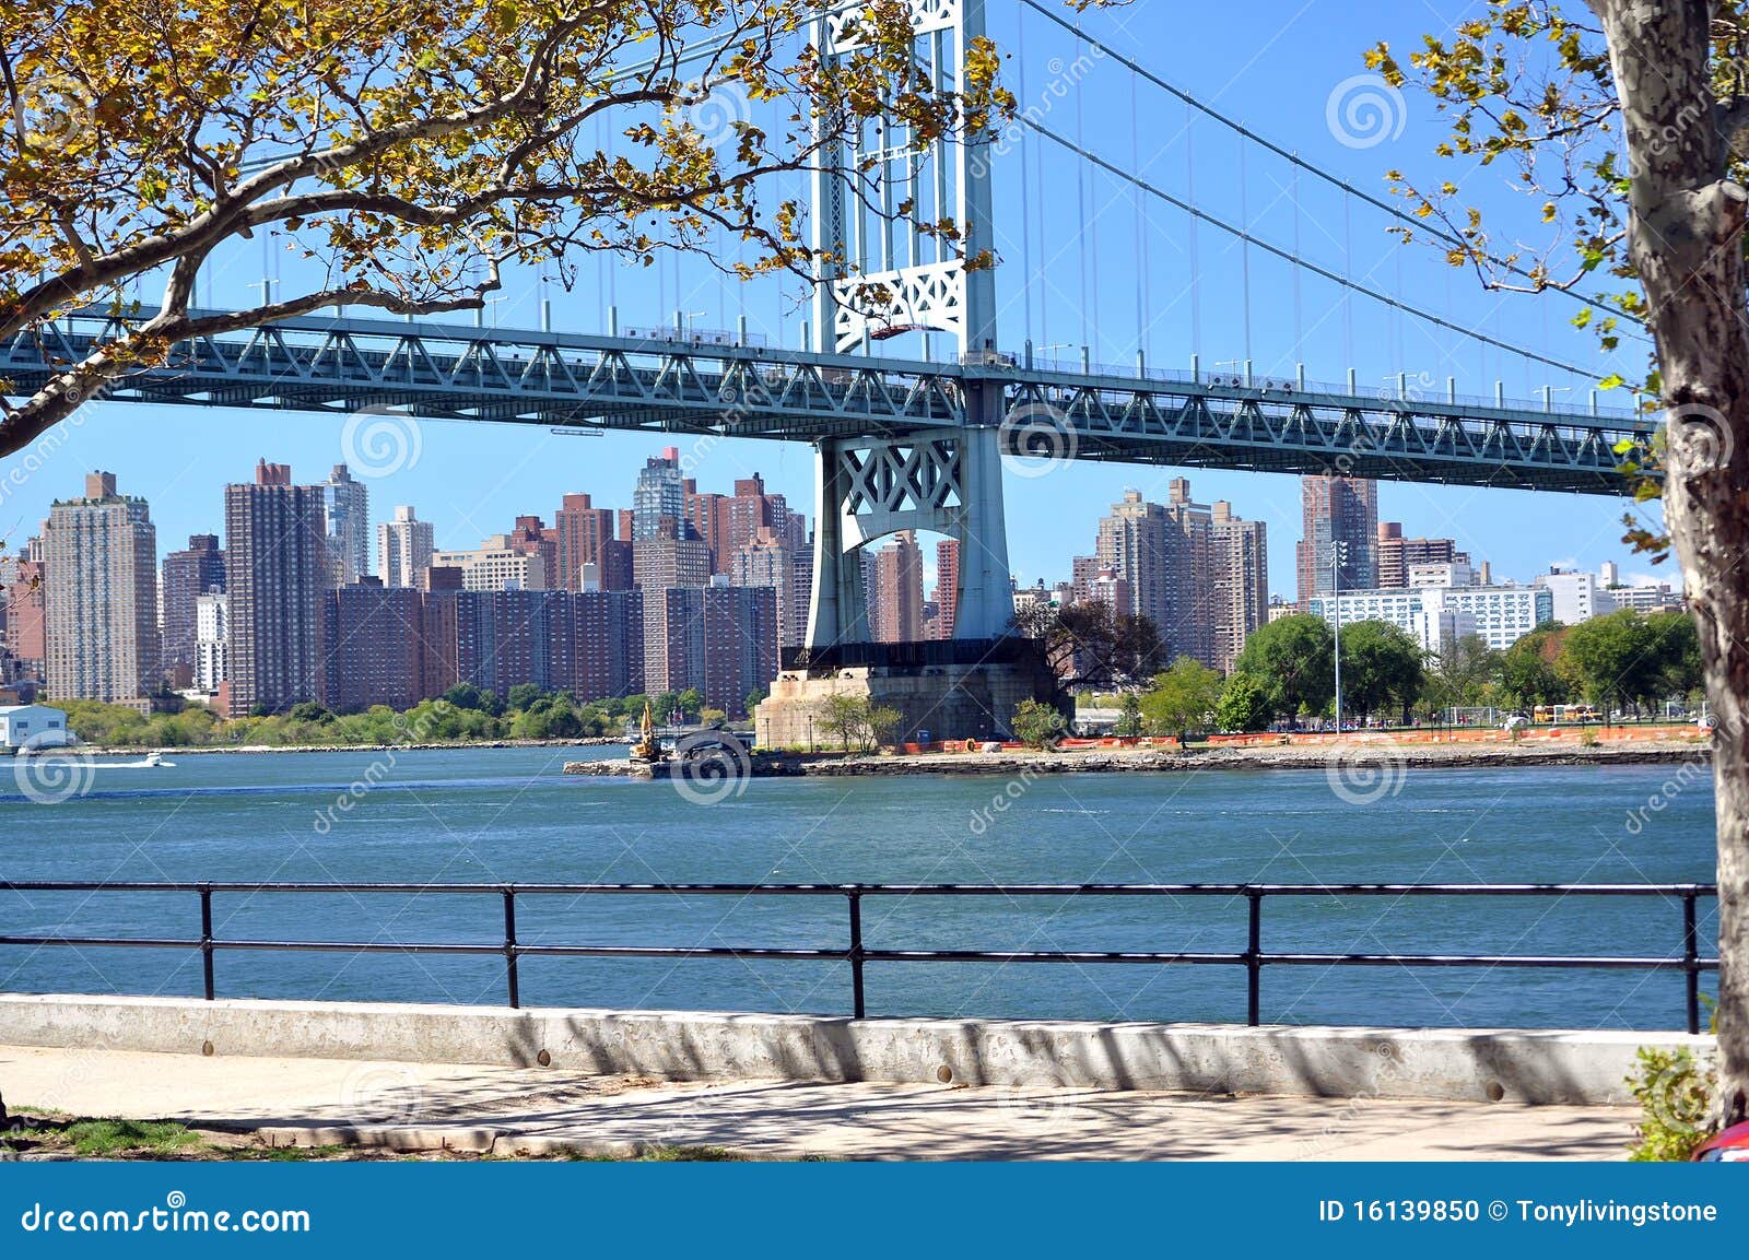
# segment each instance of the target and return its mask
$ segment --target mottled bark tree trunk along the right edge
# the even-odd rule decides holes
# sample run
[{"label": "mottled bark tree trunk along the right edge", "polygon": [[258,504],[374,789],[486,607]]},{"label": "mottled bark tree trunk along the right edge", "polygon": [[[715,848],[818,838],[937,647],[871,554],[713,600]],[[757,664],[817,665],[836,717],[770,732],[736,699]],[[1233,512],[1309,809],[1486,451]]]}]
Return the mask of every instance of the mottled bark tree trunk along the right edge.
[{"label": "mottled bark tree trunk along the right edge", "polygon": [[1749,1106],[1749,337],[1744,189],[1726,178],[1705,0],[1592,0],[1609,40],[1634,171],[1632,262],[1669,407],[1665,528],[1683,563],[1716,711],[1719,1083]]}]

